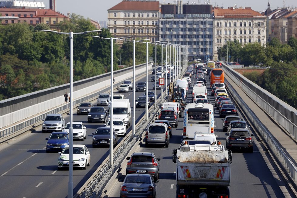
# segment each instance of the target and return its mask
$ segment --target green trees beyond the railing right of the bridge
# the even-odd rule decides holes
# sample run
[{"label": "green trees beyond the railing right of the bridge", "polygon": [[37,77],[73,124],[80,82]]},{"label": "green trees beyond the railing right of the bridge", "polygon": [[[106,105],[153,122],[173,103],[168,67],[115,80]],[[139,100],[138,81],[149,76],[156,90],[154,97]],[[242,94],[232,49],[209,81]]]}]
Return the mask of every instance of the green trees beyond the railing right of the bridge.
[{"label": "green trees beyond the railing right of the bridge", "polygon": [[[263,73],[244,73],[249,80],[297,108],[297,39],[291,37],[287,44],[281,44],[276,38],[266,46],[249,43],[241,46],[238,42],[231,45],[231,61],[241,60],[245,66],[256,65],[267,67]],[[220,57],[226,57],[227,44],[221,48]],[[232,52],[233,51],[233,52]]]}]

